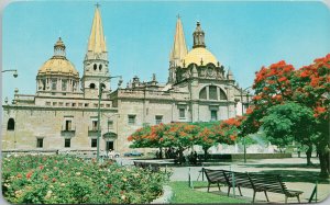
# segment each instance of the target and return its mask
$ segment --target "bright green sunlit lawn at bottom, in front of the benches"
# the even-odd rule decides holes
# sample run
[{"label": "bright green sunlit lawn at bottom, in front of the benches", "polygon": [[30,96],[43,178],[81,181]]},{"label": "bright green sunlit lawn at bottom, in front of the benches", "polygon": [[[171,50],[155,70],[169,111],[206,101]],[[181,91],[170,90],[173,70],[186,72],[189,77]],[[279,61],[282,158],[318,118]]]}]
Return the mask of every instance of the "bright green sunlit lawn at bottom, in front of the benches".
[{"label": "bright green sunlit lawn at bottom, in front of the benches", "polygon": [[[206,203],[250,203],[243,200],[221,196],[204,191],[197,191],[188,187],[188,182],[169,182],[174,196],[173,204],[189,203],[189,204],[206,204]],[[194,187],[207,187],[207,182],[194,182]]]}]

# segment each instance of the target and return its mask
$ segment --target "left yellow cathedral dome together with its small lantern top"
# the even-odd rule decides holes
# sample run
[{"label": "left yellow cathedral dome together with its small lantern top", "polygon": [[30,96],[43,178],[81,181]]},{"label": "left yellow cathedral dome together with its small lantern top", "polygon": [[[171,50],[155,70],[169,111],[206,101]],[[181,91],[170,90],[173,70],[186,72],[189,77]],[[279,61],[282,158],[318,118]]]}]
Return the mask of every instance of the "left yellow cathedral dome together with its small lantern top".
[{"label": "left yellow cathedral dome together with its small lantern top", "polygon": [[54,56],[38,69],[37,75],[79,76],[75,66],[65,57],[65,45],[61,37],[54,45]]}]

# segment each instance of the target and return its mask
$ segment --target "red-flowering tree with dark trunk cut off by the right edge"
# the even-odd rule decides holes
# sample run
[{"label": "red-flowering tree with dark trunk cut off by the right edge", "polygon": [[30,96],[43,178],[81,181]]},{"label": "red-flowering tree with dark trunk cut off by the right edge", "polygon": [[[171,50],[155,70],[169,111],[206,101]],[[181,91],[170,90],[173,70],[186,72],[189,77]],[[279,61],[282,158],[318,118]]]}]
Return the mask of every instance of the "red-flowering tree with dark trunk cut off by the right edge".
[{"label": "red-flowering tree with dark trunk cut off by the right edge", "polygon": [[330,173],[329,116],[330,116],[330,54],[296,71],[295,99],[314,110],[317,135],[312,143],[319,153],[321,175]]}]

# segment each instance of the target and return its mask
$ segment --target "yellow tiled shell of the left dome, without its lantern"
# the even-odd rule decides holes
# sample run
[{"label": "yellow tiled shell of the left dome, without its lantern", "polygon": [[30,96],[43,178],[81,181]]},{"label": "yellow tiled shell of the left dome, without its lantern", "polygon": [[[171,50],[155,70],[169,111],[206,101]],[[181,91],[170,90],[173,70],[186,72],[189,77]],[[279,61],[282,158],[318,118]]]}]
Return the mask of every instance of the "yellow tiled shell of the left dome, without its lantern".
[{"label": "yellow tiled shell of the left dome, without its lantern", "polygon": [[75,66],[67,60],[65,57],[48,59],[37,71],[38,75],[63,75],[63,76],[75,76],[79,77]]}]

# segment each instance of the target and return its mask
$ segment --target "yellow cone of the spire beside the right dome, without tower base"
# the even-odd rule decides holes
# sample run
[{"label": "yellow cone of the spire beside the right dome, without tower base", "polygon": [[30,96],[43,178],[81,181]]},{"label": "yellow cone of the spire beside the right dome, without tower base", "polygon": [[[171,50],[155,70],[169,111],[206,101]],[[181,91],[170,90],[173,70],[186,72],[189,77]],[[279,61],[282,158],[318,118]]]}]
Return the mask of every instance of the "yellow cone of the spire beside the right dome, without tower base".
[{"label": "yellow cone of the spire beside the right dome, without tower base", "polygon": [[169,61],[172,61],[175,66],[179,66],[187,53],[188,50],[186,46],[183,23],[180,16],[178,15],[175,29],[174,45],[170,52]]}]

